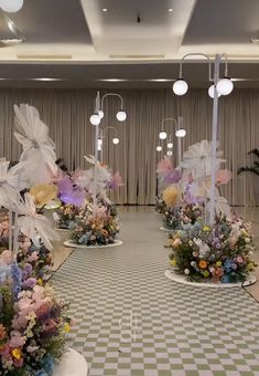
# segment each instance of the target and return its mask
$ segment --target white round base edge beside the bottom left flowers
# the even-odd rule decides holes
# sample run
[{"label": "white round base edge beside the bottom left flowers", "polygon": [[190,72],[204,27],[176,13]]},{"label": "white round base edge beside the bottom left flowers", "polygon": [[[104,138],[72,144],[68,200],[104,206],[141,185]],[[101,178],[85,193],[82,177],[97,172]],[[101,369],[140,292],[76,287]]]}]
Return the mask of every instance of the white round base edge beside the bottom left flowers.
[{"label": "white round base edge beside the bottom left flowers", "polygon": [[54,366],[53,376],[86,376],[86,359],[73,348],[68,348],[61,362]]}]

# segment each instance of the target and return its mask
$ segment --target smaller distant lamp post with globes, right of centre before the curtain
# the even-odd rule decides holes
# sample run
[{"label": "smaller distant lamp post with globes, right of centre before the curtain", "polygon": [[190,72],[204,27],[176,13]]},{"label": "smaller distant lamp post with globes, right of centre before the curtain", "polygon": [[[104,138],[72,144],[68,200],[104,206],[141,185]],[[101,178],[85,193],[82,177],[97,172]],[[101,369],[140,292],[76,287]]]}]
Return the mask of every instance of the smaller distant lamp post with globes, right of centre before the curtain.
[{"label": "smaller distant lamp post with globes, right of centre before the curtain", "polygon": [[[185,137],[185,135],[186,135],[186,130],[183,128],[183,117],[179,116],[177,119],[174,118],[174,117],[166,117],[166,118],[164,118],[161,122],[161,130],[159,133],[159,138],[161,140],[164,140],[168,137],[168,134],[164,130],[164,123],[165,122],[173,122],[174,123],[174,126],[175,126],[174,127],[174,134],[175,134],[175,136],[177,138],[177,156],[179,156],[179,165],[180,165],[181,164],[181,159],[182,159],[182,142],[181,142],[181,138]],[[168,143],[168,149],[170,149],[169,152],[172,153],[172,150],[171,150],[172,148],[173,148],[173,143],[172,143],[172,139],[171,139],[171,134],[170,134],[169,143]],[[161,150],[162,150],[162,146],[158,145],[157,146],[157,152],[161,152]],[[170,155],[172,155],[171,153],[170,153]]]}]

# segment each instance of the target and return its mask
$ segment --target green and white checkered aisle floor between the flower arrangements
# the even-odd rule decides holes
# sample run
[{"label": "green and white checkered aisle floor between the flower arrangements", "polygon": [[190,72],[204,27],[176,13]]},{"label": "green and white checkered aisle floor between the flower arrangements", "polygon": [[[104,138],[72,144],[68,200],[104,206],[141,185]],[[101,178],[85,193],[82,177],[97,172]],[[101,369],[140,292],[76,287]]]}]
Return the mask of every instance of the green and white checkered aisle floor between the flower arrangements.
[{"label": "green and white checkered aisle floor between the flower arrangements", "polygon": [[121,222],[123,246],[76,250],[52,279],[89,375],[259,375],[258,303],[239,288],[168,280],[159,218],[125,212]]}]

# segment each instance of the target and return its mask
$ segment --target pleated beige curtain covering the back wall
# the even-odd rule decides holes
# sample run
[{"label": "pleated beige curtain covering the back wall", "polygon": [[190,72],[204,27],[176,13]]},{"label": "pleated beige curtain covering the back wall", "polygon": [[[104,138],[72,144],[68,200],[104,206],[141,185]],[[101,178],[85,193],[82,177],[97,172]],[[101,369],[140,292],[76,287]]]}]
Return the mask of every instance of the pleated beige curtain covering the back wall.
[{"label": "pleated beige curtain covering the back wall", "polygon": [[[184,117],[185,150],[193,143],[211,139],[212,100],[206,90],[193,90],[183,97],[176,97],[171,90],[116,92],[123,96],[127,121],[116,119],[119,102],[107,97],[101,123],[102,127],[117,127],[120,137],[119,145],[115,146],[114,134],[108,132],[104,143],[104,161],[115,171],[119,170],[125,181],[114,199],[117,203],[153,203],[157,163],[162,157],[155,152],[161,121],[177,115]],[[57,157],[63,157],[71,169],[86,168],[84,155],[94,153],[94,126],[89,116],[95,96],[94,90],[1,90],[0,157],[19,159],[21,148],[13,137],[13,104],[28,103],[39,109],[50,126]],[[237,176],[237,169],[250,166],[253,157],[247,153],[259,147],[259,91],[235,90],[219,102],[219,142],[226,167],[233,171],[233,180],[224,194],[233,205],[256,205],[259,202],[259,177],[250,173]],[[173,134],[173,123],[168,123],[166,129]],[[173,159],[176,140],[174,145]]]}]

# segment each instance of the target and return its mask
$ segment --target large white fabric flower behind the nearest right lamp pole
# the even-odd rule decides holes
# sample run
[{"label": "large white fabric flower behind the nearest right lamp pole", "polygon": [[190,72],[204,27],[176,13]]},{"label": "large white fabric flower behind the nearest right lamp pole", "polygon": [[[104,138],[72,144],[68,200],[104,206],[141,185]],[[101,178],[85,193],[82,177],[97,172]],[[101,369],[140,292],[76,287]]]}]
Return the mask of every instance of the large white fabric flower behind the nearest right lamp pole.
[{"label": "large white fabric flower behind the nearest right lamp pole", "polygon": [[[194,179],[212,175],[212,143],[204,139],[188,147],[187,152],[183,155],[181,167],[190,171]],[[216,153],[216,168],[218,169],[223,152]]]}]

